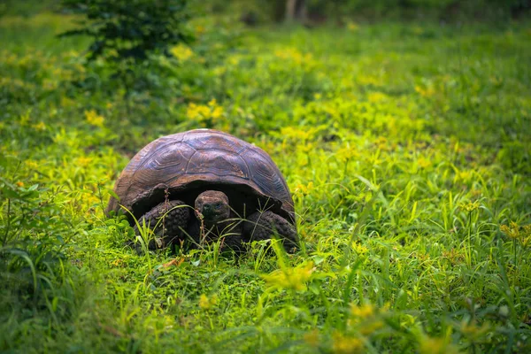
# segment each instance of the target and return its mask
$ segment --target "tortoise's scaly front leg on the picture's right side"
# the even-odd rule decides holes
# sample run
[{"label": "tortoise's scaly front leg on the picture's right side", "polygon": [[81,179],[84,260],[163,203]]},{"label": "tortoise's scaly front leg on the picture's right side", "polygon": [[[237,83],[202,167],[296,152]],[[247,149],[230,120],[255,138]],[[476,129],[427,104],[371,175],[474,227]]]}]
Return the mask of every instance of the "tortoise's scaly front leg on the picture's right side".
[{"label": "tortoise's scaly front leg on the picture's right side", "polygon": [[296,228],[280,215],[274,212],[255,212],[243,222],[243,238],[246,242],[268,240],[275,234],[281,237],[284,249],[296,249]]}]

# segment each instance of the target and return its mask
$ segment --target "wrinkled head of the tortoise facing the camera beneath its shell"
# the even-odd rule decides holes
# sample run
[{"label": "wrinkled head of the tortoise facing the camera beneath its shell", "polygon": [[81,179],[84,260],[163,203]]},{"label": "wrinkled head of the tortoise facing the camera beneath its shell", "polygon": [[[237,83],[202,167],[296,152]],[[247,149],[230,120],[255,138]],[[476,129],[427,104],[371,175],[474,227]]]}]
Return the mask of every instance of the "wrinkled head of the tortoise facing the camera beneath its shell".
[{"label": "wrinkled head of the tortoise facing the camera beneath its shell", "polygon": [[230,206],[225,193],[207,190],[196,197],[195,208],[203,215],[204,225],[213,225],[230,218]]}]

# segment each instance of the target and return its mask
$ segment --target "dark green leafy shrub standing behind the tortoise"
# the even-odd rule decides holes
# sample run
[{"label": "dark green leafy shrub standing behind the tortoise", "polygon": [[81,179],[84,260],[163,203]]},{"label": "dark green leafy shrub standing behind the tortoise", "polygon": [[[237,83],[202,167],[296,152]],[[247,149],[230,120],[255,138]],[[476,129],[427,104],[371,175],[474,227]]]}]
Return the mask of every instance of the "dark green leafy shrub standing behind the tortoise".
[{"label": "dark green leafy shrub standing behind the tortoise", "polygon": [[64,0],[65,10],[85,16],[82,27],[62,36],[92,38],[89,62],[102,58],[126,88],[135,84],[138,66],[152,54],[171,56],[170,47],[192,40],[184,26],[188,0]]}]

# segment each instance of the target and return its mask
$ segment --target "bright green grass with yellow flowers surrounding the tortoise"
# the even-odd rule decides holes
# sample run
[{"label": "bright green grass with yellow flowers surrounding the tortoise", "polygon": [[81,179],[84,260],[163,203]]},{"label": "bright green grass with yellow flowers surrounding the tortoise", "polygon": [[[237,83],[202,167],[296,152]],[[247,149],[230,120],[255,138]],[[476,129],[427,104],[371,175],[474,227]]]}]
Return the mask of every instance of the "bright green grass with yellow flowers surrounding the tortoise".
[{"label": "bright green grass with yellow flowers surrounding the tortoise", "polygon": [[[71,19],[2,19],[2,350],[530,350],[528,22],[196,25],[126,104]],[[302,250],[124,246],[119,172],[195,127],[271,154]]]}]

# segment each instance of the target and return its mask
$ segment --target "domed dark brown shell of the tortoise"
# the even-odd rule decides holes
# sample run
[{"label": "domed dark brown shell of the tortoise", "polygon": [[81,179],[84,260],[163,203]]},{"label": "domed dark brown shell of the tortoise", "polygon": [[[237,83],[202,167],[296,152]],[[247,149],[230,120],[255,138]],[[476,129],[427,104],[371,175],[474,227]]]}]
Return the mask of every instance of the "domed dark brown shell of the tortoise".
[{"label": "domed dark brown shell of the tortoise", "polygon": [[[125,206],[135,217],[169,199],[193,205],[201,190],[225,192],[236,212],[266,207],[295,222],[293,200],[279,168],[264,150],[233,135],[196,129],[150,142],[119,175],[107,212]],[[244,205],[243,205],[244,204]]]}]

